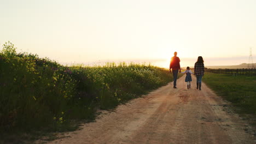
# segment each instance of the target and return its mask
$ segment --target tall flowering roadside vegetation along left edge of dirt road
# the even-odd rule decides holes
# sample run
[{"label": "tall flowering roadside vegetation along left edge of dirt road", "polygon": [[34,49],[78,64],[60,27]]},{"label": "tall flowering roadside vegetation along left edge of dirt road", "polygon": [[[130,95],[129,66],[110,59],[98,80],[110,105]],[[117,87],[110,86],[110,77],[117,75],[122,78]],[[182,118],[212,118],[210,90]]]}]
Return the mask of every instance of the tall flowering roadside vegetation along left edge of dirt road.
[{"label": "tall flowering roadside vegetation along left edge of dirt road", "polygon": [[74,130],[73,121],[91,121],[97,109],[113,109],[170,81],[168,70],[152,65],[66,67],[17,53],[5,43],[0,52],[0,139],[14,131]]}]

